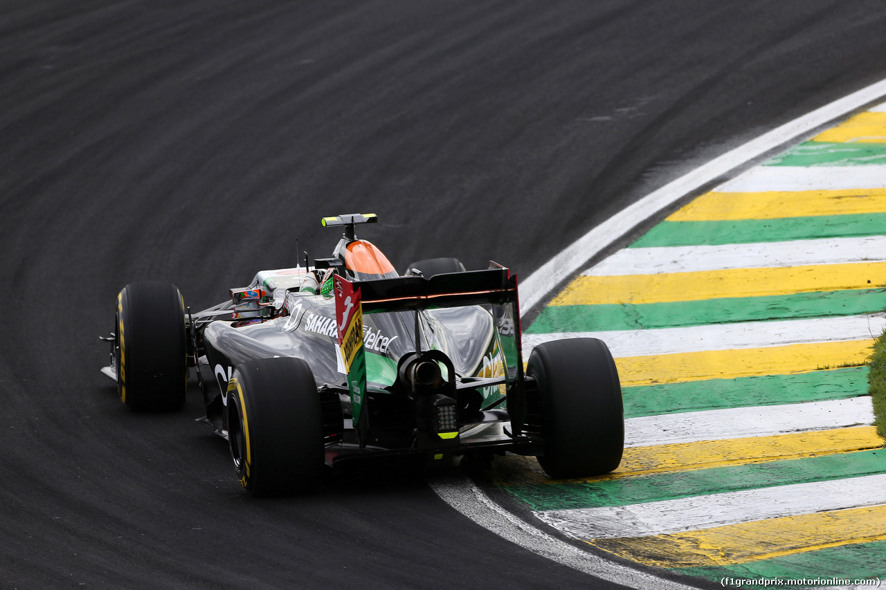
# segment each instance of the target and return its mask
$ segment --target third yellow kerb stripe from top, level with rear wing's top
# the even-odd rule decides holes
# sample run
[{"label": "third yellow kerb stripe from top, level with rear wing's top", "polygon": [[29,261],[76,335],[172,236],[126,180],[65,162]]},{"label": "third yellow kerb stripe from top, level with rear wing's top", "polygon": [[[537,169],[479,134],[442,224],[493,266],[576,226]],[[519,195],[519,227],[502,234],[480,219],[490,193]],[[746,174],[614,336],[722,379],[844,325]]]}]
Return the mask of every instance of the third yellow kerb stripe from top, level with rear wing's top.
[{"label": "third yellow kerb stripe from top, level with rear wing's top", "polygon": [[664,303],[873,289],[886,283],[886,262],[729,268],[663,275],[575,277],[552,306]]}]

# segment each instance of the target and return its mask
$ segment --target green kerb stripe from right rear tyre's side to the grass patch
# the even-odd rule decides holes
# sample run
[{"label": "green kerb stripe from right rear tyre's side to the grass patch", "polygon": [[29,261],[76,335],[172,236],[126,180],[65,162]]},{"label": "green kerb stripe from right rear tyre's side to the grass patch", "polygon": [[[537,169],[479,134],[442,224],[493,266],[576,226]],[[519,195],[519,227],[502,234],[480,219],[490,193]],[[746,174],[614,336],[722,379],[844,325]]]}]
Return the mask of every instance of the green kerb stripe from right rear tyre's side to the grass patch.
[{"label": "green kerb stripe from right rear tyre's side to the grass patch", "polygon": [[849,367],[625,387],[625,417],[854,398],[867,393],[868,372],[867,367]]}]

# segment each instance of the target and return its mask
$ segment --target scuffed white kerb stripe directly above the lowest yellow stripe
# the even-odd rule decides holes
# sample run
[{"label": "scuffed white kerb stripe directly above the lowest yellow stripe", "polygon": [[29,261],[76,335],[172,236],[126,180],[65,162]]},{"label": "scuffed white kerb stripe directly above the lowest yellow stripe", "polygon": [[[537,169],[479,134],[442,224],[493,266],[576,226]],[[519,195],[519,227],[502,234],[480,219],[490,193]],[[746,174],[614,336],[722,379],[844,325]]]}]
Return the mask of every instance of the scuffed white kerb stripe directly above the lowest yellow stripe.
[{"label": "scuffed white kerb stripe directly above the lowest yellow stripe", "polygon": [[630,506],[545,510],[534,514],[571,537],[610,539],[698,531],[766,518],[879,504],[886,504],[886,475],[776,485]]}]

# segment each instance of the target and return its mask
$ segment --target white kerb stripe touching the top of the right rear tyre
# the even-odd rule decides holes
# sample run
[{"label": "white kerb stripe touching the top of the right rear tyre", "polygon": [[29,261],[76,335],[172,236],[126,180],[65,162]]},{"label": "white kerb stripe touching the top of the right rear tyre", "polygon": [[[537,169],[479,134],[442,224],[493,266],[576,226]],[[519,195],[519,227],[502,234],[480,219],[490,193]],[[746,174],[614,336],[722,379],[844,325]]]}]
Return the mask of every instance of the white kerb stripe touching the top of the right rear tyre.
[{"label": "white kerb stripe touching the top of the right rear tyre", "polygon": [[612,356],[618,358],[767,348],[838,340],[869,340],[880,336],[883,330],[886,330],[886,314],[878,313],[779,322],[719,323],[652,330],[524,334],[523,356],[528,360],[535,346],[542,342],[566,338],[599,338],[609,346]]}]

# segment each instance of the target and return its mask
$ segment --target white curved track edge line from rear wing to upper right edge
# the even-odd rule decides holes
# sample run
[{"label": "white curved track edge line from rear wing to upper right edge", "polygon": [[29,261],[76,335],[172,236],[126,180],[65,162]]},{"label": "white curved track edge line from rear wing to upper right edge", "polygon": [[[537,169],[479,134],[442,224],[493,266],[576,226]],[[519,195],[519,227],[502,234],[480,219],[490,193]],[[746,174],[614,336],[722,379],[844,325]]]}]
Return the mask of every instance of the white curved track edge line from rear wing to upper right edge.
[{"label": "white curved track edge line from rear wing to upper right edge", "polygon": [[627,206],[588,231],[587,234],[564,248],[562,252],[556,254],[532,275],[521,281],[520,307],[522,309],[520,313],[525,314],[541,303],[548,293],[563,280],[563,277],[579,272],[588,260],[594,258],[604,248],[689,192],[700,189],[719,176],[727,174],[751,159],[762,156],[767,151],[772,151],[830,120],[843,117],[884,96],[886,96],[886,80],[875,82],[867,88],[853,92],[847,97],[812,111],[812,113],[806,113],[802,117],[781,125],[781,127],[774,128],[772,131],[712,159],[692,172],[668,182],[660,189],[652,191],[646,197]]}]

